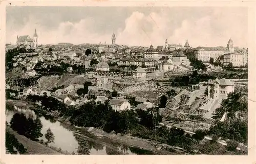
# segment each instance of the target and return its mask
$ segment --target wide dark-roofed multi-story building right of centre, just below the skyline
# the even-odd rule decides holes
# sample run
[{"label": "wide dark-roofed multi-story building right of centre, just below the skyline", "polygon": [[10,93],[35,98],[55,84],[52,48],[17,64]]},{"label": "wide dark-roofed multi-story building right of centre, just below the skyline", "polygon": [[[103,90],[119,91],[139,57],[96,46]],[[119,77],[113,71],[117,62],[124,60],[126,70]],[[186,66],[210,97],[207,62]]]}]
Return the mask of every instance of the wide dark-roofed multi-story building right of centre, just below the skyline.
[{"label": "wide dark-roofed multi-story building right of centre, just below the skyline", "polygon": [[167,57],[172,56],[172,54],[170,52],[165,51],[163,49],[163,46],[158,46],[157,49],[154,49],[153,45],[151,45],[150,48],[147,49],[144,54],[145,59],[153,58],[153,59],[158,60],[158,59],[162,58],[163,56],[167,56]]}]

